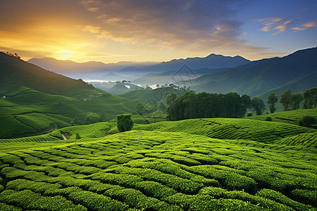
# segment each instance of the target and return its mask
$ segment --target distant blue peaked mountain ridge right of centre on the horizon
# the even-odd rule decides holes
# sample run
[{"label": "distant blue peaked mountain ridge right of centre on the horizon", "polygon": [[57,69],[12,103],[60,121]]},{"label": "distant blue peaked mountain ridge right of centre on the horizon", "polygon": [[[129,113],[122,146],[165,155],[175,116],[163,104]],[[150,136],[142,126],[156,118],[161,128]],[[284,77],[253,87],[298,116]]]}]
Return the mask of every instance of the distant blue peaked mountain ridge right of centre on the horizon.
[{"label": "distant blue peaked mountain ridge right of centre on the horizon", "polygon": [[145,74],[149,72],[161,73],[161,72],[177,72],[182,68],[183,65],[187,65],[192,70],[197,70],[201,68],[210,68],[210,69],[218,69],[218,68],[233,68],[238,65],[244,65],[250,63],[250,60],[242,58],[241,56],[222,56],[212,53],[205,58],[186,58],[186,59],[173,59],[168,62],[159,63],[156,65],[146,66],[143,68],[123,68],[120,70],[120,73],[124,73],[126,75],[133,74]]}]

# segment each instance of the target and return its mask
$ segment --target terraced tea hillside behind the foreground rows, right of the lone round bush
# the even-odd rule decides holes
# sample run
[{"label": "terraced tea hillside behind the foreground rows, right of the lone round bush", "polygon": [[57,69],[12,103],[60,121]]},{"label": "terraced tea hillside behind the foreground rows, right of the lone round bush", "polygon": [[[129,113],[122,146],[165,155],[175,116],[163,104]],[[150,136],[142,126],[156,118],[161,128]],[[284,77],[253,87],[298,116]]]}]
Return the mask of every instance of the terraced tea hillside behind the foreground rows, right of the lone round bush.
[{"label": "terraced tea hillside behind the foreground rows, right of the lone round bush", "polygon": [[[267,122],[249,119],[195,119],[177,122],[157,122],[137,125],[134,129],[161,132],[187,132],[208,136],[214,139],[241,139],[257,143],[283,143],[299,148],[310,147],[316,150],[316,129],[299,127],[293,124]],[[309,139],[301,139],[309,133]],[[307,135],[308,137],[308,135]],[[293,141],[288,141],[292,139]],[[302,144],[305,143],[305,144]]]}]

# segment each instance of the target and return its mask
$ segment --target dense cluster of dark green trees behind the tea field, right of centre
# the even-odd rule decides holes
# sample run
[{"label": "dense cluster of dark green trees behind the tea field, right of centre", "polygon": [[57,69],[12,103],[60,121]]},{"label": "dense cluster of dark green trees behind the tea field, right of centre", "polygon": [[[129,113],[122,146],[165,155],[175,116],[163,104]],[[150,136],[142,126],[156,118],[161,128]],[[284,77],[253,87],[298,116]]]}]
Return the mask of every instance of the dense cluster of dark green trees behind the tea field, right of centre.
[{"label": "dense cluster of dark green trees behind the tea field, right of centre", "polygon": [[169,120],[185,120],[192,118],[211,117],[243,117],[247,109],[253,108],[256,115],[265,110],[264,102],[260,98],[250,98],[246,94],[237,93],[208,94],[201,92],[194,94],[187,91],[180,98],[175,94],[166,96]]}]

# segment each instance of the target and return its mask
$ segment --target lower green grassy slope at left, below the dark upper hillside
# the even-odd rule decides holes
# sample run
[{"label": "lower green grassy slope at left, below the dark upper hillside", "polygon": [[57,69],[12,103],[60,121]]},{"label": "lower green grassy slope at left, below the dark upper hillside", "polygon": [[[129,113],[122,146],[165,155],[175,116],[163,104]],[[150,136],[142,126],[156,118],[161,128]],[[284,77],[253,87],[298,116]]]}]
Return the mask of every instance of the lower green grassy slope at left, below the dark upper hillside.
[{"label": "lower green grassy slope at left, below the dark upper hillside", "polygon": [[78,117],[84,121],[88,113],[104,113],[109,119],[119,113],[131,113],[137,101],[106,95],[77,101],[74,98],[44,94],[32,89],[19,89],[0,99],[0,138],[43,134],[54,128],[70,126]]}]

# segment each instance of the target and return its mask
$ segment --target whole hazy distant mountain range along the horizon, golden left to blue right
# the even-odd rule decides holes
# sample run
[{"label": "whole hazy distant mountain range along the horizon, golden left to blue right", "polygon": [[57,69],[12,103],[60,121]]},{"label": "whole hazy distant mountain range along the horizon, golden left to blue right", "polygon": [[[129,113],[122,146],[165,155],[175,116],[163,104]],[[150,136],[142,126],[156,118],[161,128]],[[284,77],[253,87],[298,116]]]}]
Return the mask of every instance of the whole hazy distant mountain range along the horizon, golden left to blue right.
[{"label": "whole hazy distant mountain range along the horizon, golden left to blue right", "polygon": [[[205,58],[186,58],[186,59],[173,59],[168,62],[162,62],[158,64],[144,62],[144,63],[132,63],[132,62],[120,62],[120,63],[101,63],[101,62],[87,62],[87,63],[75,63],[70,60],[56,60],[54,58],[32,58],[28,60],[29,63],[38,65],[46,70],[51,70],[64,75],[72,77],[85,76],[85,78],[93,79],[102,78],[105,80],[113,79],[113,75],[116,74],[116,78],[121,76],[122,79],[135,75],[147,75],[149,73],[162,73],[162,72],[176,72],[182,65],[187,65],[193,70],[201,68],[218,69],[218,68],[232,68],[237,65],[243,65],[250,62],[241,56],[222,56],[211,54]],[[211,72],[207,72],[211,73]],[[123,77],[124,76],[124,77]]]}]

